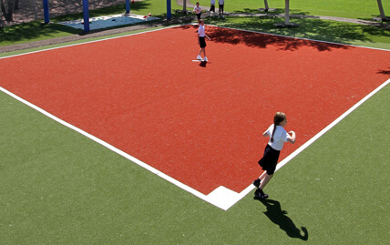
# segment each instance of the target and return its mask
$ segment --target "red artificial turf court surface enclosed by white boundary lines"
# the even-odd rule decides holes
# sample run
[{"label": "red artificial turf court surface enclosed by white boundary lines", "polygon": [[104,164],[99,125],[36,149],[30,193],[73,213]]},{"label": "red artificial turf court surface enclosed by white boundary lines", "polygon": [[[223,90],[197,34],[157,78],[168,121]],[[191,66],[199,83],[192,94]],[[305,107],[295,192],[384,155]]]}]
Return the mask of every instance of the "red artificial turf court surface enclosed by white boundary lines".
[{"label": "red artificial turf court surface enclosed by white boundary lines", "polygon": [[389,78],[385,50],[212,26],[201,66],[196,30],[3,58],[0,86],[207,195],[259,176],[275,112],[297,133],[282,160]]}]

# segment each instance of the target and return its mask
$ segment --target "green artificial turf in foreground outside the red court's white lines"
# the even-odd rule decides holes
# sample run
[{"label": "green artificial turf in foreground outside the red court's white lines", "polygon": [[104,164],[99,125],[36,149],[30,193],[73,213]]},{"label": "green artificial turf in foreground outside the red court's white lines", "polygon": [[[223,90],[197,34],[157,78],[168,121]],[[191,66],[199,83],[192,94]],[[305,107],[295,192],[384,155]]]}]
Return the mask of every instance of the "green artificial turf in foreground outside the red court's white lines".
[{"label": "green artificial turf in foreground outside the red court's white lines", "polygon": [[0,92],[0,243],[387,244],[389,110],[386,86],[275,174],[273,208],[223,211]]}]

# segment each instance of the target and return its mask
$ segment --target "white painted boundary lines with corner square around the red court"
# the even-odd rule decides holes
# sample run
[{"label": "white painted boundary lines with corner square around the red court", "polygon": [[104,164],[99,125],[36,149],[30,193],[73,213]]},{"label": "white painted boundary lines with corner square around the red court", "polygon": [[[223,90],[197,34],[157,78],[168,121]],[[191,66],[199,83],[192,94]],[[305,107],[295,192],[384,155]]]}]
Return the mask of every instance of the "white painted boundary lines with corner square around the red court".
[{"label": "white painted boundary lines with corner square around the red court", "polygon": [[[172,27],[176,27],[176,26],[169,26],[169,27],[165,27],[165,28],[160,28],[160,29],[151,30],[151,31],[147,31],[147,32],[140,32],[140,33],[137,33],[137,34],[130,34],[130,35],[126,35],[126,36],[139,35],[139,34],[159,31],[159,30],[163,30],[163,29],[166,29],[166,28],[172,28]],[[220,27],[220,26],[218,26],[218,27]],[[233,29],[233,28],[228,28],[228,27],[221,27],[221,28]],[[239,30],[239,29],[234,29],[234,30]],[[252,33],[260,33],[260,32],[247,31],[247,30],[240,30],[240,31],[252,32]],[[266,34],[266,33],[261,33],[261,34]],[[270,34],[266,34],[266,35],[270,35]],[[271,35],[273,35],[273,34],[271,34]],[[280,36],[280,35],[273,35],[273,36]],[[84,42],[84,43],[80,43],[80,44],[69,45],[69,46],[84,45],[84,44],[95,43],[95,42],[100,42],[100,41],[105,41],[105,40],[115,39],[115,38],[120,38],[120,37],[125,37],[125,36],[114,36],[114,37],[109,37],[109,38],[104,38],[104,39],[94,40],[94,41],[90,41],[90,42]],[[295,38],[295,39],[304,39],[304,38],[300,38],[300,37],[291,37],[291,36],[285,36],[285,37]],[[310,40],[310,39],[304,39],[304,40]],[[323,41],[317,41],[317,40],[311,40],[311,41],[323,42]],[[323,42],[323,43],[330,43],[330,42]],[[331,43],[331,44],[336,44],[336,43]],[[344,44],[337,44],[337,45],[348,46],[348,45],[344,45]],[[63,48],[63,47],[67,47],[67,46],[58,46],[58,47],[53,47],[53,48],[33,51],[33,52],[25,53],[25,54],[19,54],[19,55],[15,55],[15,56],[24,56],[24,55],[28,55],[28,54],[34,54],[34,53],[37,53],[37,52],[42,52],[42,51],[46,51],[46,50],[53,50],[53,49]],[[370,48],[370,47],[364,47],[364,46],[356,46],[356,47]],[[373,49],[377,49],[377,48],[373,48]],[[389,50],[386,50],[386,49],[379,49],[379,50],[389,51]],[[6,57],[12,57],[12,56],[0,57],[0,59],[1,58],[6,58]],[[389,83],[390,83],[390,79],[385,81],[385,83],[383,83],[381,86],[377,87],[373,92],[371,92],[366,97],[361,99],[358,103],[356,103],[354,105],[354,107],[351,107],[346,112],[344,112],[344,114],[342,116],[340,116],[337,119],[335,119],[334,122],[332,122],[326,128],[323,128],[322,131],[320,131],[318,134],[316,134],[313,138],[309,139],[306,143],[303,144],[303,146],[301,146],[300,148],[298,148],[294,152],[292,152],[292,154],[290,154],[287,158],[284,158],[277,165],[276,171],[279,170],[280,168],[282,168],[285,164],[287,164],[287,162],[289,162],[292,158],[296,157],[305,148],[308,148],[311,144],[313,144],[313,142],[315,140],[317,140],[318,138],[322,137],[324,133],[326,133],[331,128],[333,128],[337,123],[339,123],[341,120],[343,120],[344,117],[348,116],[351,112],[354,111],[354,109],[356,109],[357,107],[361,106],[368,98],[374,96],[375,93],[377,93],[379,90],[381,90],[383,87],[385,87]],[[242,190],[240,193],[237,193],[235,191],[232,191],[231,189],[227,189],[227,188],[221,186],[221,187],[219,187],[217,189],[214,189],[209,195],[204,195],[204,194],[200,193],[200,191],[198,191],[196,189],[192,189],[189,186],[181,183],[180,181],[178,181],[176,179],[173,179],[173,178],[169,177],[168,175],[160,172],[158,169],[153,168],[153,167],[149,166],[148,164],[140,161],[138,158],[134,158],[134,157],[128,155],[128,153],[126,153],[126,152],[124,152],[124,151],[122,151],[122,150],[120,150],[118,148],[113,147],[112,145],[108,144],[107,142],[101,140],[100,138],[97,138],[97,137],[87,133],[86,131],[84,131],[84,130],[82,130],[80,128],[77,128],[77,127],[67,123],[66,121],[64,121],[64,120],[62,120],[62,119],[60,119],[60,118],[58,118],[58,117],[56,117],[56,116],[46,112],[46,110],[44,110],[44,109],[42,109],[40,107],[36,107],[36,105],[26,101],[22,97],[16,96],[15,94],[13,94],[12,92],[6,90],[5,88],[0,87],[0,91],[3,91],[5,94],[9,95],[10,97],[14,97],[18,101],[24,103],[26,106],[32,107],[32,108],[36,109],[38,112],[44,114],[46,117],[50,117],[53,120],[56,120],[58,123],[64,125],[65,127],[71,128],[71,129],[77,131],[78,133],[84,135],[85,137],[94,140],[98,144],[100,144],[100,145],[102,145],[102,146],[104,146],[106,148],[109,148],[110,150],[118,153],[120,156],[122,156],[124,158],[128,158],[129,160],[131,160],[134,163],[138,164],[140,167],[148,169],[150,172],[158,175],[160,178],[166,179],[170,183],[178,186],[180,189],[184,189],[184,190],[190,192],[191,194],[193,194],[194,196],[196,196],[196,197],[198,197],[200,199],[203,199],[203,200],[209,202],[210,204],[213,204],[214,206],[216,206],[216,207],[218,207],[220,209],[223,209],[223,210],[230,209],[235,203],[237,203],[240,199],[244,198],[249,192],[251,192],[252,189],[254,189],[254,187],[252,185],[250,185],[246,189]]]}]

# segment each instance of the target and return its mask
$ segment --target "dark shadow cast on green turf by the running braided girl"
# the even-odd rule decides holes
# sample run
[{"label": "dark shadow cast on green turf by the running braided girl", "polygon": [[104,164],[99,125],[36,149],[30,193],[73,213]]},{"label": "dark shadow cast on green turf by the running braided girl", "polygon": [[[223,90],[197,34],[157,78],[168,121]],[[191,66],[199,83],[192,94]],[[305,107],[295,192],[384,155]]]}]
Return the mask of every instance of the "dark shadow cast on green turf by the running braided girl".
[{"label": "dark shadow cast on green turf by the running braided girl", "polygon": [[260,200],[262,204],[267,207],[267,211],[265,211],[264,214],[268,217],[268,219],[284,230],[289,237],[302,240],[309,239],[309,233],[307,232],[307,229],[305,227],[301,227],[303,231],[302,235],[301,230],[299,230],[293,223],[292,219],[286,215],[287,211],[282,210],[279,201],[272,199],[259,199],[256,197],[254,199]]}]

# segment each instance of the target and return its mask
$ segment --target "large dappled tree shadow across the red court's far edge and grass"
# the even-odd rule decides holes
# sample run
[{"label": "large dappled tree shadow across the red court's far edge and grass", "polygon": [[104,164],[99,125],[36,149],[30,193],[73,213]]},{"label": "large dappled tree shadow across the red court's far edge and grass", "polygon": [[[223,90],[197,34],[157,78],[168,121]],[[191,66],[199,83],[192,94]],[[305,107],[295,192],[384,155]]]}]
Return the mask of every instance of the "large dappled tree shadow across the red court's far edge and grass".
[{"label": "large dappled tree shadow across the red court's far edge and grass", "polygon": [[[336,44],[352,45],[355,41],[375,42],[375,38],[390,37],[390,30],[375,26],[364,26],[344,22],[326,21],[315,18],[292,18],[291,22],[298,27],[283,28],[275,24],[283,23],[284,18],[267,16],[226,17],[225,19],[210,18],[210,25],[227,26],[234,29],[250,30],[278,36],[267,36],[259,39],[256,35],[247,33],[235,35],[235,30],[216,30],[210,33],[213,41],[231,44],[245,44],[266,48],[268,45],[278,45],[281,50],[296,50],[300,46],[313,46],[319,51],[331,51],[334,48],[352,48]],[[207,30],[206,30],[207,31]],[[312,42],[310,40],[286,39],[282,36],[299,37],[328,43]]]}]

